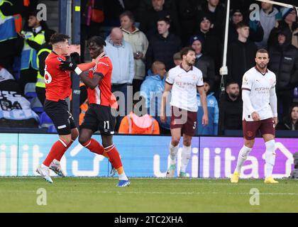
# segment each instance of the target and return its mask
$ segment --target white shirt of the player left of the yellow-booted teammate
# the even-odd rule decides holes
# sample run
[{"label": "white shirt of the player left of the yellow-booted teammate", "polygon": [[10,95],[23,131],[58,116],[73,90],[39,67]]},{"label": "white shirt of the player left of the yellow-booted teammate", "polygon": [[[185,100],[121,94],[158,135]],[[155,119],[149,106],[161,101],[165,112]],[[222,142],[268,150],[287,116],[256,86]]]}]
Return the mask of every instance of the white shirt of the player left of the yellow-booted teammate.
[{"label": "white shirt of the player left of the yellow-booted teammate", "polygon": [[172,85],[171,106],[198,111],[197,88],[204,85],[201,70],[192,66],[189,71],[185,71],[182,65],[177,65],[169,71],[165,82]]}]

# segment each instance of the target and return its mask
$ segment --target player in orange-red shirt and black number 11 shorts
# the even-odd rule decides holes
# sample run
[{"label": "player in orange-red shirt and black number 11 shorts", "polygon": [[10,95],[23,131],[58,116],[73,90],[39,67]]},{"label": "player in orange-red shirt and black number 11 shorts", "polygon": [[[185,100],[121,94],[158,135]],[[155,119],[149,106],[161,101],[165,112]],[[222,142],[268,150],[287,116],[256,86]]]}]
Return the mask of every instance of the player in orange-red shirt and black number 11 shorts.
[{"label": "player in orange-red shirt and black number 11 shorts", "polygon": [[[111,165],[119,175],[119,182],[116,186],[127,187],[131,182],[126,177],[120,155],[113,143],[116,118],[111,113],[111,108],[116,99],[111,93],[113,66],[109,57],[104,54],[105,45],[106,42],[100,36],[94,36],[88,40],[90,57],[92,59],[99,58],[98,63],[89,71],[88,75],[84,74],[75,62],[62,61],[60,69],[75,71],[88,87],[89,106],[79,128],[79,143],[89,150],[97,150],[100,153],[105,151],[109,156]],[[101,133],[102,146],[91,138],[96,131]]]}]

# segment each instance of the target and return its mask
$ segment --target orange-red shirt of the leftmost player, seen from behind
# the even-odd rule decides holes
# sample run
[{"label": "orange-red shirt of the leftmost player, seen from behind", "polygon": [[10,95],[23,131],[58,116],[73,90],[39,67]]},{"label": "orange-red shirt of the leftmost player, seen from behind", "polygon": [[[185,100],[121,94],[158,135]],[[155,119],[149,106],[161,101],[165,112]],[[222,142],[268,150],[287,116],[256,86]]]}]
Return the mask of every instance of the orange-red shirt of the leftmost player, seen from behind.
[{"label": "orange-red shirt of the leftmost player, seen from behind", "polygon": [[45,59],[45,97],[51,101],[64,100],[72,92],[70,72],[59,68],[62,60],[65,57],[53,51]]}]

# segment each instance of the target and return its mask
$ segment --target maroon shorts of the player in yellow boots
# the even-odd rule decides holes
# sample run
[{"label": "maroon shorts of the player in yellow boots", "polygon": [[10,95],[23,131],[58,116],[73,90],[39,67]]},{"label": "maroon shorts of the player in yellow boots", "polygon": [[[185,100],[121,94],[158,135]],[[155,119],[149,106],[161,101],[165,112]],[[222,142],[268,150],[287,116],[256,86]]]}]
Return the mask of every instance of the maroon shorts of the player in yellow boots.
[{"label": "maroon shorts of the player in yellow boots", "polygon": [[260,130],[261,135],[275,135],[275,124],[273,118],[267,118],[261,121],[242,121],[243,136],[246,140],[253,140]]}]

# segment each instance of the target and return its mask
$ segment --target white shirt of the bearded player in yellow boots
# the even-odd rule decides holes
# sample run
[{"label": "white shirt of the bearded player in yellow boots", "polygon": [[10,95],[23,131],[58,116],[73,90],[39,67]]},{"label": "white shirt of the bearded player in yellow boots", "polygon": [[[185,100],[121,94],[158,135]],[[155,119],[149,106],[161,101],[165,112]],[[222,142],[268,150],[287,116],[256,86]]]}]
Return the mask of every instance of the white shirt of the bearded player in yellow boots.
[{"label": "white shirt of the bearded player in yellow boots", "polygon": [[[261,120],[273,117],[269,103],[270,90],[275,89],[275,84],[275,74],[270,70],[262,74],[258,68],[252,67],[243,75],[242,89],[250,91],[250,103],[253,109],[259,114]],[[243,120],[253,121],[251,114],[248,105],[243,102]]]}]

